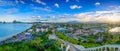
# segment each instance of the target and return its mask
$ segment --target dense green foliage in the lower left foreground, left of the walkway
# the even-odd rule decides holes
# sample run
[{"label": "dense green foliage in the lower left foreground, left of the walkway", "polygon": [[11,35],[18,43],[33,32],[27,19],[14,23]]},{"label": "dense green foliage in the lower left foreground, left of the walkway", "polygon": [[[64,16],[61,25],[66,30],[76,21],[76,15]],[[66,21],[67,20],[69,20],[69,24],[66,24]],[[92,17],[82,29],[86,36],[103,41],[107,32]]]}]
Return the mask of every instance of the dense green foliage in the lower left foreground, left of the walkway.
[{"label": "dense green foliage in the lower left foreground, left of the walkway", "polygon": [[34,33],[30,41],[14,42],[0,45],[0,51],[60,51],[60,40],[49,40],[48,33],[43,35]]}]

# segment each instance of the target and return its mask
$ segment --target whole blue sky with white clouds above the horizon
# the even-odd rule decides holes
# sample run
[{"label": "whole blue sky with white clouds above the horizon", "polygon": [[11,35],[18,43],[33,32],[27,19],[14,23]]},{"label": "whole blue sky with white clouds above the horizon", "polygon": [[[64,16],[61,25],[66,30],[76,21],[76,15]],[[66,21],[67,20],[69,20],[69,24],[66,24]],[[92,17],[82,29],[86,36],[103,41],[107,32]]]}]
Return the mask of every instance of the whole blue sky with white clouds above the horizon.
[{"label": "whole blue sky with white clouds above the horizon", "polygon": [[120,22],[120,0],[0,0],[0,21]]}]

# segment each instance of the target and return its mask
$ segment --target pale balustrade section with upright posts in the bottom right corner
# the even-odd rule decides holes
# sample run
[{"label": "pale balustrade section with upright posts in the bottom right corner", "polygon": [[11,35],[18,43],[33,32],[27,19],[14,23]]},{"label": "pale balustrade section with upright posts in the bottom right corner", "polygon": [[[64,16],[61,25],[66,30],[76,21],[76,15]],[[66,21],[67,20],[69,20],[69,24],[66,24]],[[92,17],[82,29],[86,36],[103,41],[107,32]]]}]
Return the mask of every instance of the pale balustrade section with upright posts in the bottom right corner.
[{"label": "pale balustrade section with upright posts in the bottom right corner", "polygon": [[103,45],[95,48],[86,48],[81,51],[120,51],[120,45]]}]

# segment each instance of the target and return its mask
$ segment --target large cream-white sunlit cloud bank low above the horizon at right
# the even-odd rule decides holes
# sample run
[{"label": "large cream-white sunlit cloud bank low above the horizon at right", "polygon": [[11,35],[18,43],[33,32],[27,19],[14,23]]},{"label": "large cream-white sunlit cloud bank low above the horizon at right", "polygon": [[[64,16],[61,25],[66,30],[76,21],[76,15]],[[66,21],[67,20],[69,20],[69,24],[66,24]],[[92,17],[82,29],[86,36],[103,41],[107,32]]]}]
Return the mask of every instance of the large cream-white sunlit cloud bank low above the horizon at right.
[{"label": "large cream-white sunlit cloud bank low above the horizon at right", "polygon": [[96,11],[74,14],[74,17],[80,22],[120,22],[120,11]]}]

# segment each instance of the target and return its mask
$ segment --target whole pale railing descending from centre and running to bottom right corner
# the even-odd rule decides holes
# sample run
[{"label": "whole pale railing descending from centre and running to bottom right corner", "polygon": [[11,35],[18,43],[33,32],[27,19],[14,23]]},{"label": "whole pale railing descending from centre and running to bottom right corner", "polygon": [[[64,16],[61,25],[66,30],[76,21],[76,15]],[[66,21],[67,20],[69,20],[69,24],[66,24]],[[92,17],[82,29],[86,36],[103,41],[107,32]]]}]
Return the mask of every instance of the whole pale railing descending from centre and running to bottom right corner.
[{"label": "whole pale railing descending from centre and running to bottom right corner", "polygon": [[[60,39],[62,40],[62,39]],[[94,48],[84,48],[83,46],[75,45],[72,43],[69,43],[67,41],[62,40],[63,43],[68,44],[66,46],[66,50],[63,49],[63,44],[61,45],[62,51],[71,51],[71,46],[73,46],[75,49],[74,51],[120,51],[120,44],[116,45],[103,45],[103,46],[98,46]]]}]

